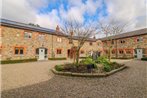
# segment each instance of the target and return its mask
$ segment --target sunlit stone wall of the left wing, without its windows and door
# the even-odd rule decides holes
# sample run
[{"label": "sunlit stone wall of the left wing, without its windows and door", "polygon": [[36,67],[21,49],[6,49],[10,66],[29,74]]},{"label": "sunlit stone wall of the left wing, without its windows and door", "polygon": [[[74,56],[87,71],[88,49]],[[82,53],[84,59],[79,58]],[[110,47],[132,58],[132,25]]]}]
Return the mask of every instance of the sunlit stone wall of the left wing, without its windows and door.
[{"label": "sunlit stone wall of the left wing, without its windows and door", "polygon": [[[38,55],[36,54],[36,49],[43,47],[48,49],[47,57],[48,58],[67,58],[67,51],[71,48],[71,44],[69,44],[69,40],[67,37],[51,35],[47,33],[28,31],[18,28],[11,28],[6,26],[1,26],[1,54],[2,60],[16,60],[16,59],[29,59],[36,58]],[[24,32],[31,32],[32,38],[25,38]],[[39,35],[43,34],[44,39],[39,39]],[[61,38],[61,42],[58,42],[57,39]],[[97,41],[98,42],[98,41]],[[97,42],[93,42],[92,45],[89,45],[87,41],[81,50],[85,51],[80,56],[86,56],[88,51],[96,51],[102,50],[102,46],[98,45]],[[101,41],[99,41],[101,42]],[[77,40],[74,41],[77,43]],[[15,47],[23,47],[24,55],[15,55],[14,49]],[[62,53],[57,54],[57,49],[61,49]]]}]

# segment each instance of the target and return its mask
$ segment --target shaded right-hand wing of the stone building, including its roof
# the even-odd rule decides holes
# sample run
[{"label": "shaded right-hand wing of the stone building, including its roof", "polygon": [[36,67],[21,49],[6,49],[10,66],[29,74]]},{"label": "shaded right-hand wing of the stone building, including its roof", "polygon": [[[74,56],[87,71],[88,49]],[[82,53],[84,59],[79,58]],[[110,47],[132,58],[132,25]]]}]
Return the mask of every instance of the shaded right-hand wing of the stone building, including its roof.
[{"label": "shaded right-hand wing of the stone building, including its roof", "polygon": [[[111,39],[111,40],[108,40]],[[104,54],[108,54],[108,46],[112,46],[112,58],[147,57],[147,28],[101,38]]]}]

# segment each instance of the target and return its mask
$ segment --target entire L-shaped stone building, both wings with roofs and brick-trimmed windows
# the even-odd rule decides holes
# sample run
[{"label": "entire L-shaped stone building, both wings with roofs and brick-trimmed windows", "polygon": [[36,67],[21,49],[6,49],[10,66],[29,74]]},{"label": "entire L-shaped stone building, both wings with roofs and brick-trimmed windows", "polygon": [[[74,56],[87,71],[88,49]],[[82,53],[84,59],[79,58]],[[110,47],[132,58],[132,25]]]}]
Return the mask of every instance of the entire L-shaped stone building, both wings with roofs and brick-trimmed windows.
[{"label": "entire L-shaped stone building, both wings with roofs and brick-trimmed windows", "polygon": [[[80,57],[86,57],[92,51],[107,55],[108,44],[112,44],[113,58],[147,57],[147,28],[111,36],[107,38],[89,38],[80,50]],[[37,58],[70,58],[71,44],[68,36],[56,30],[35,25],[1,19],[0,25],[1,60],[23,60]],[[77,37],[74,38],[77,43]]]}]

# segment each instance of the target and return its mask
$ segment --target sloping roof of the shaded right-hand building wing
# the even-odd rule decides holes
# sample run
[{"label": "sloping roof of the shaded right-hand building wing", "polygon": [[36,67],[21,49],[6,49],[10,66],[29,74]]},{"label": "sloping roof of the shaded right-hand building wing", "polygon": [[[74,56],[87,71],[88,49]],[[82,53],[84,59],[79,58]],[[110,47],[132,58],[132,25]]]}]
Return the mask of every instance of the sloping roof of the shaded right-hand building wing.
[{"label": "sloping roof of the shaded right-hand building wing", "polygon": [[[145,34],[147,34],[147,28],[126,32],[115,36],[110,36],[109,39],[122,39],[127,37],[145,35]],[[99,40],[105,41],[108,40],[108,37],[100,38]]]}]

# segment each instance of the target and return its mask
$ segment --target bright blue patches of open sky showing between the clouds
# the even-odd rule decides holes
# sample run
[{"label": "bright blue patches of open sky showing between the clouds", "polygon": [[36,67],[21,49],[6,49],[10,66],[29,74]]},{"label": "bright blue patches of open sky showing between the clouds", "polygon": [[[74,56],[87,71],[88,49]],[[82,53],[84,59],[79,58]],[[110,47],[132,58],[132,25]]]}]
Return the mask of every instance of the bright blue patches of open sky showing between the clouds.
[{"label": "bright blue patches of open sky showing between the clouds", "polygon": [[[68,2],[69,0],[58,0],[58,2],[55,1],[51,1],[46,7],[44,8],[39,8],[38,9],[38,14],[46,14],[46,13],[50,13],[52,10],[57,10],[58,12],[58,17],[60,19],[62,19],[60,12],[60,7],[63,6],[65,11],[68,11],[69,9],[71,9],[72,7],[76,6],[76,5],[71,5],[71,2]],[[76,1],[76,0],[75,0]],[[97,0],[91,0],[93,3],[96,3]],[[88,14],[86,11],[83,13],[83,18],[84,18],[84,22],[93,20],[93,21],[97,21],[99,20],[99,14],[101,14],[103,17],[106,17],[108,12],[107,12],[107,6],[105,4],[104,0],[99,0],[100,1],[100,6],[96,8],[96,11],[94,14]],[[81,0],[81,2],[83,4],[86,5],[86,3],[88,2],[88,0]],[[74,13],[73,13],[74,14]],[[74,17],[76,18],[76,17]]]}]

